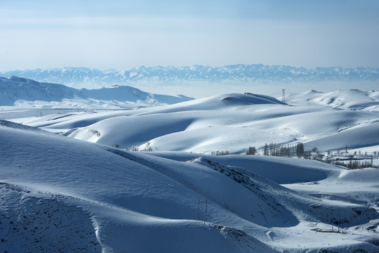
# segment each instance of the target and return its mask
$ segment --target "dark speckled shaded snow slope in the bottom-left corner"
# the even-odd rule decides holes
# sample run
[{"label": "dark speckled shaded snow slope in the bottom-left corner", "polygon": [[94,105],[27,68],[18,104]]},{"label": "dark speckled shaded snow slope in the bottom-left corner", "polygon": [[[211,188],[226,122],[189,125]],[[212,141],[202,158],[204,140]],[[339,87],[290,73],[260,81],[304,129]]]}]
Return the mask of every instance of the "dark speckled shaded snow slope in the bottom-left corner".
[{"label": "dark speckled shaded snow slope in the bottom-left corner", "polygon": [[61,195],[0,183],[4,252],[101,252],[93,217]]}]

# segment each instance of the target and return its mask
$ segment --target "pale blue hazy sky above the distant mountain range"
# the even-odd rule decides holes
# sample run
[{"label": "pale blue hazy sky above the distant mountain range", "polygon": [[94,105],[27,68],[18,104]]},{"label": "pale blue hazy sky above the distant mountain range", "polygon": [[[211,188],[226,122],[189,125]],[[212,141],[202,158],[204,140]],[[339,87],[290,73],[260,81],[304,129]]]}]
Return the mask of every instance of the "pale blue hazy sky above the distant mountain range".
[{"label": "pale blue hazy sky above the distant mountain range", "polygon": [[0,71],[379,67],[379,1],[0,0]]}]

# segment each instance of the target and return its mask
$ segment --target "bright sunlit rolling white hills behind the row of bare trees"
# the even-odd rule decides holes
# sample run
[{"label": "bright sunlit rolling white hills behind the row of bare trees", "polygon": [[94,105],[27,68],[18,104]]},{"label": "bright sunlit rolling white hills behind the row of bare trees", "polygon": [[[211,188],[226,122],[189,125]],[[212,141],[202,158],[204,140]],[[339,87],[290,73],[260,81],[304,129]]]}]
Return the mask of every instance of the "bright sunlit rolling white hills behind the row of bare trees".
[{"label": "bright sunlit rolling white hills behind the row of bare trees", "polygon": [[[299,96],[297,99],[300,103]],[[379,104],[371,102],[366,104],[368,108]],[[304,103],[290,106],[268,96],[232,93],[139,110],[55,114],[15,121],[94,143],[155,151],[227,150],[238,154],[248,146],[260,150],[265,143],[299,141],[307,149],[317,147],[325,152],[346,147],[372,147],[376,151],[378,111],[335,110]]]}]

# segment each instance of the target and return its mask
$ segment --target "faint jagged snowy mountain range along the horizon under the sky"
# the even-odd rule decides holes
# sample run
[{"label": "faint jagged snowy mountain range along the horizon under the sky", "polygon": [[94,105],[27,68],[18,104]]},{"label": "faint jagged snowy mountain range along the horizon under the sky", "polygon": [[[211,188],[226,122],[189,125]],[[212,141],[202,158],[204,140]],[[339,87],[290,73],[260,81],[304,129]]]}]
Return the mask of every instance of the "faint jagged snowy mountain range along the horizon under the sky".
[{"label": "faint jagged snowy mountain range along the horizon under the sky", "polygon": [[291,67],[282,65],[227,65],[209,67],[134,67],[131,70],[96,70],[88,67],[60,67],[46,70],[12,70],[0,72],[3,77],[25,77],[39,82],[53,82],[72,87],[91,87],[157,82],[175,84],[182,82],[375,82],[379,68],[371,67]]}]

